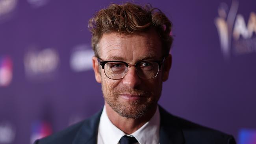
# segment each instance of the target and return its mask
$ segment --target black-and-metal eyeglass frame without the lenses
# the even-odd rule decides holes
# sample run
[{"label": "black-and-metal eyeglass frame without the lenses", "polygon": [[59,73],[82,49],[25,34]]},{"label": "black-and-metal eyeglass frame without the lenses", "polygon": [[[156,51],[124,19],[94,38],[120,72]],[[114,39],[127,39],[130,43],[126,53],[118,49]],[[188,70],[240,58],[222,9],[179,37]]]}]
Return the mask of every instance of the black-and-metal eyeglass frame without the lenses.
[{"label": "black-and-metal eyeglass frame without the lenses", "polygon": [[[128,66],[130,66],[128,63],[126,63],[126,62],[124,62],[124,61],[103,61],[100,57],[97,57],[97,61],[98,61],[99,65],[102,66],[102,69],[104,69],[106,63],[108,63],[108,62],[124,63],[124,64],[126,65],[126,68],[127,68],[127,69],[126,69],[125,75],[124,75],[122,78],[120,78],[120,79],[123,79],[123,78],[126,76],[126,74],[127,74],[127,72],[128,72]],[[135,66],[136,73],[137,73],[138,76],[139,76],[139,74],[138,74],[138,72],[137,72],[137,65],[138,65],[139,63],[143,63],[143,62],[147,62],[147,61],[148,61],[148,62],[152,61],[152,62],[158,63],[158,72],[157,72],[157,74],[156,74],[156,76],[157,76],[158,73],[159,73],[159,70],[161,69],[161,66],[162,66],[162,64],[163,64],[163,61],[165,61],[165,57],[163,57],[163,59],[160,60],[160,61],[156,61],[156,60],[145,60],[145,61],[138,61],[138,62],[135,63],[134,65],[131,65],[131,66]],[[105,70],[104,70],[104,74],[106,75]],[[154,76],[153,78],[156,78],[156,76]],[[108,77],[108,76],[106,75],[106,77]],[[109,77],[108,77],[108,78],[109,78]],[[141,77],[139,76],[139,78],[141,78]],[[109,78],[109,79],[112,79],[112,78]],[[141,78],[141,79],[144,79],[144,78]],[[152,79],[152,78],[149,78],[149,79]],[[114,80],[118,80],[118,79],[114,79]]]}]

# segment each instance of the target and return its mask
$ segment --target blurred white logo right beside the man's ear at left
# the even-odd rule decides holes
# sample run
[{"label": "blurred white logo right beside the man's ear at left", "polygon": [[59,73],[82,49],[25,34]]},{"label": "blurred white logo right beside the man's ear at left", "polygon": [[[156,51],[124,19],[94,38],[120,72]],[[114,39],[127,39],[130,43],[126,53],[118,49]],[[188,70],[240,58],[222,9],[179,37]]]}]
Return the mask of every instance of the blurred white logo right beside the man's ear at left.
[{"label": "blurred white logo right beside the man's ear at left", "polygon": [[86,70],[91,70],[92,66],[92,57],[94,52],[91,49],[91,46],[86,44],[81,44],[75,46],[71,52],[70,56],[70,67],[75,72],[82,72]]}]

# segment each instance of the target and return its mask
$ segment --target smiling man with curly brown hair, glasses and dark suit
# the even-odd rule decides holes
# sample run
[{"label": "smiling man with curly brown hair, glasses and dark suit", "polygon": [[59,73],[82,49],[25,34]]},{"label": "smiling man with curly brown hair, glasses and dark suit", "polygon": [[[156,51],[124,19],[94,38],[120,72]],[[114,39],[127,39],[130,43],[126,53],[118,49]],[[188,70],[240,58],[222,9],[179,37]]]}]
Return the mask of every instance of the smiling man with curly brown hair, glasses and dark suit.
[{"label": "smiling man with curly brown hair, glasses and dark suit", "polygon": [[169,76],[171,22],[158,9],[111,4],[89,20],[93,70],[105,105],[88,120],[35,144],[235,144],[158,106]]}]

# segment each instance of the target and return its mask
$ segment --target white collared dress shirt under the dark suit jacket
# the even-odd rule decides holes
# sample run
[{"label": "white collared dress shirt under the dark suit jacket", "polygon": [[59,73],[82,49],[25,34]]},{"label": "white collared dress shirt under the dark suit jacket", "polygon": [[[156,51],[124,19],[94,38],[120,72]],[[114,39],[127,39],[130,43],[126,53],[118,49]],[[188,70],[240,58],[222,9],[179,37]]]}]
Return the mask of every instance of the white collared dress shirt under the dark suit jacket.
[{"label": "white collared dress shirt under the dark suit jacket", "polygon": [[[160,113],[157,107],[154,116],[134,133],[127,135],[135,137],[137,144],[159,144]],[[97,144],[119,144],[122,136],[126,135],[121,129],[113,125],[109,120],[104,106],[100,116]]]}]

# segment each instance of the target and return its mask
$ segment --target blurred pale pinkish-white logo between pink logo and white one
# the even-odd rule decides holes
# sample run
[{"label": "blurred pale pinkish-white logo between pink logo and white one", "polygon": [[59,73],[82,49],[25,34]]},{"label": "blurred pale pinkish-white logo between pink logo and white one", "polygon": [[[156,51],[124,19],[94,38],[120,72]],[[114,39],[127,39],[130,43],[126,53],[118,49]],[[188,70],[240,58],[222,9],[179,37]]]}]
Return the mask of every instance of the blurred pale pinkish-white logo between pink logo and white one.
[{"label": "blurred pale pinkish-white logo between pink logo and white one", "polygon": [[24,57],[25,72],[29,77],[55,72],[58,65],[59,55],[52,48],[46,48],[41,51],[29,50]]}]

